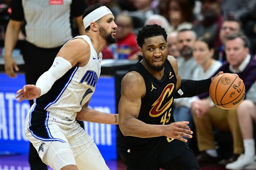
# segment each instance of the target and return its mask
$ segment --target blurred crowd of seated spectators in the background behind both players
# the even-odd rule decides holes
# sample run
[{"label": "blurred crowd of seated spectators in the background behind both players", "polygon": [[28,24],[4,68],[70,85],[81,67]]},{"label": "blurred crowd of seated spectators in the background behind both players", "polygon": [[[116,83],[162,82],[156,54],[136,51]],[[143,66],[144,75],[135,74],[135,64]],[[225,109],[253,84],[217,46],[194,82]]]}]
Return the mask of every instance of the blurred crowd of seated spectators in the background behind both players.
[{"label": "blurred crowd of seated spectators in the background behind both players", "polygon": [[[11,0],[0,0],[0,40],[12,12]],[[108,45],[103,59],[140,60],[138,30],[158,24],[168,35],[168,54],[178,61],[182,79],[207,79],[219,70],[238,74],[246,86],[239,107],[219,110],[209,96],[181,98],[174,103],[175,121],[190,121],[200,165],[220,164],[228,169],[256,168],[254,124],[256,122],[256,0],[85,0],[102,3],[115,16],[116,44]],[[24,22],[25,25],[26,22]],[[71,19],[72,35],[78,35]],[[21,29],[20,40],[26,39]],[[199,107],[198,107],[199,105]],[[197,110],[200,110],[198,114]],[[225,140],[220,139],[225,133]],[[229,133],[229,135],[226,135]],[[218,135],[217,135],[218,134]],[[221,154],[220,143],[228,141],[230,154]]]}]

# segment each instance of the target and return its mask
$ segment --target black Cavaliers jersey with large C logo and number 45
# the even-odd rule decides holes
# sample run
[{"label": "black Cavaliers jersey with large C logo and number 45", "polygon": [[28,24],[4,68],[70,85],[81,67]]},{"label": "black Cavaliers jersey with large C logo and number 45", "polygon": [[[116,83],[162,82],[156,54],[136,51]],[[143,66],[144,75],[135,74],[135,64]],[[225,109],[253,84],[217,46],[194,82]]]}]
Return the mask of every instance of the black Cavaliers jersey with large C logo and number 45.
[{"label": "black Cavaliers jersey with large C logo and number 45", "polygon": [[[142,103],[137,119],[148,124],[164,125],[172,123],[174,121],[172,107],[177,78],[171,63],[168,60],[164,63],[164,76],[161,80],[152,76],[140,62],[133,66],[130,71],[139,72],[144,78],[146,85],[146,94],[141,99]],[[153,140],[158,140],[158,137],[125,137],[119,130],[117,144],[123,145],[129,143],[133,146],[141,146]]]}]

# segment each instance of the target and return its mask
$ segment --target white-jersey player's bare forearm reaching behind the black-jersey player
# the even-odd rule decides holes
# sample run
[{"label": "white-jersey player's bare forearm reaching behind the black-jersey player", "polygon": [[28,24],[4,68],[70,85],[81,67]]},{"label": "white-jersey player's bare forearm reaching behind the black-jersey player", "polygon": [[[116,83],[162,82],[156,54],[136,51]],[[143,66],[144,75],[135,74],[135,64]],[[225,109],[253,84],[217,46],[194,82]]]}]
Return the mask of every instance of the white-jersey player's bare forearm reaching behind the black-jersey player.
[{"label": "white-jersey player's bare forearm reaching behind the black-jersey player", "polygon": [[80,112],[77,112],[76,119],[94,123],[115,124],[119,123],[119,114],[103,113],[88,107],[87,102]]}]

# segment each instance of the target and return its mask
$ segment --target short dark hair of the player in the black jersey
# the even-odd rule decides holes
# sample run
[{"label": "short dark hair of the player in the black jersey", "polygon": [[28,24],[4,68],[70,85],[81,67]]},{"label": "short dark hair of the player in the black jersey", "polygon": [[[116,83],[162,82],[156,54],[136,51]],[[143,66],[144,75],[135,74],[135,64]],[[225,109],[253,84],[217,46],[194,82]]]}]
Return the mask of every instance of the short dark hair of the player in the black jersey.
[{"label": "short dark hair of the player in the black jersey", "polygon": [[146,25],[141,30],[139,30],[137,34],[137,44],[139,47],[142,48],[146,38],[155,37],[159,35],[163,35],[164,40],[166,40],[167,42],[167,34],[163,27],[157,24]]}]

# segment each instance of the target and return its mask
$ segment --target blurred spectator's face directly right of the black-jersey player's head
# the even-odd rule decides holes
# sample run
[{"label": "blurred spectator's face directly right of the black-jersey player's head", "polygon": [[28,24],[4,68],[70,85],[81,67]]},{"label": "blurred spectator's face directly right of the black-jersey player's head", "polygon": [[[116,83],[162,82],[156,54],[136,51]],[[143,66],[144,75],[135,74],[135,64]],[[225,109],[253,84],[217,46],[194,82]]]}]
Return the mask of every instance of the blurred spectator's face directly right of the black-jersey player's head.
[{"label": "blurred spectator's face directly right of the black-jersey player's head", "polygon": [[167,35],[168,55],[175,58],[180,57],[178,49],[178,33],[172,32]]}]

